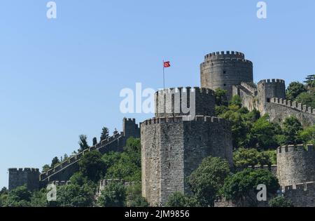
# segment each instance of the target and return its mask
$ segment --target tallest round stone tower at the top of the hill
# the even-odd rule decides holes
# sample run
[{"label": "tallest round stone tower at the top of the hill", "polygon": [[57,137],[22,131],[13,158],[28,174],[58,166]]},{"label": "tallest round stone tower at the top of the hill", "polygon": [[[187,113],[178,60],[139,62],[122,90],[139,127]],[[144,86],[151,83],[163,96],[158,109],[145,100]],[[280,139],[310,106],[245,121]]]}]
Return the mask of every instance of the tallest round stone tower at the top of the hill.
[{"label": "tallest round stone tower at the top of the hill", "polygon": [[228,91],[228,99],[232,98],[232,86],[241,82],[253,82],[253,63],[245,60],[244,53],[224,51],[204,56],[200,65],[202,88]]}]

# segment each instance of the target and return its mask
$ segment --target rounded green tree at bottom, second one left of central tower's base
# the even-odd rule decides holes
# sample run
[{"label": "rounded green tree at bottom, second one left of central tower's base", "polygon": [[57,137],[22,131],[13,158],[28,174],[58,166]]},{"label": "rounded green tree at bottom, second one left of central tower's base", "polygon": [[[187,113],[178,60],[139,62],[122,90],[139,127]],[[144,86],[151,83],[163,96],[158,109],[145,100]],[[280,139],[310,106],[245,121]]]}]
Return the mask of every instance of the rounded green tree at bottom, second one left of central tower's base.
[{"label": "rounded green tree at bottom, second one left of central tower's base", "polygon": [[110,182],[101,192],[97,200],[99,207],[124,207],[126,189],[121,182]]}]

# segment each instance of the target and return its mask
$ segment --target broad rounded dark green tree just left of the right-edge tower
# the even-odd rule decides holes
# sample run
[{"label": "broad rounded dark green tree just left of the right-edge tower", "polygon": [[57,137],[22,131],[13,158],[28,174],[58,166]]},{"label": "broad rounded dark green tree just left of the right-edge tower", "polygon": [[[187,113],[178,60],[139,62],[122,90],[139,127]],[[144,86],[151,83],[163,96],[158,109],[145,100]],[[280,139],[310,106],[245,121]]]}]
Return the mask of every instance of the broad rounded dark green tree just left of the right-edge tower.
[{"label": "broad rounded dark green tree just left of the right-edge tower", "polygon": [[269,196],[276,194],[280,187],[278,180],[269,170],[245,169],[225,179],[222,193],[226,199],[239,205],[258,206],[256,188],[260,184],[266,185]]}]

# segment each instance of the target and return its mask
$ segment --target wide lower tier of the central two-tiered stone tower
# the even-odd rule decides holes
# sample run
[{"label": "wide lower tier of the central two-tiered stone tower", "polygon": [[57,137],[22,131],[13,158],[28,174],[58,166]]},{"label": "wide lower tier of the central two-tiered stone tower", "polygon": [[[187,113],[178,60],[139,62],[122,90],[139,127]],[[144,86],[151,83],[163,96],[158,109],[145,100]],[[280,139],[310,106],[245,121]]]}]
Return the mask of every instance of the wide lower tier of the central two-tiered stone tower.
[{"label": "wide lower tier of the central two-tiered stone tower", "polygon": [[164,204],[173,192],[189,192],[186,178],[205,157],[218,156],[232,166],[230,125],[210,116],[144,121],[141,156],[143,196],[153,206]]}]

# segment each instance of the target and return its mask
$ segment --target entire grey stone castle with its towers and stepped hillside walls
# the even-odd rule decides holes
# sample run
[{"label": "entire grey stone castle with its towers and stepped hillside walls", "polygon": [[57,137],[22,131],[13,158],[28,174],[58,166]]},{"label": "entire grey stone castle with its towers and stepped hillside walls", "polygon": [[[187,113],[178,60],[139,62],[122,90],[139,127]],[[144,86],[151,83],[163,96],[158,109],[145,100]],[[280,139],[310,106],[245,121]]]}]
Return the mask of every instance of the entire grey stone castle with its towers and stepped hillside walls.
[{"label": "entire grey stone castle with its towers and stepped hillside walls", "polygon": [[[155,117],[137,125],[123,120],[123,132],[72,156],[59,166],[39,173],[37,169],[9,169],[9,189],[27,185],[45,187],[66,181],[78,170],[86,152],[121,151],[127,138],[141,138],[142,194],[153,206],[163,205],[174,192],[190,193],[186,178],[207,156],[232,161],[232,132],[225,119],[215,116],[214,91],[228,91],[228,99],[239,95],[244,107],[269,114],[281,123],[297,116],[303,126],[314,125],[315,109],[286,100],[281,79],[253,83],[253,63],[235,51],[210,53],[200,65],[201,87],[169,88],[155,93]],[[194,99],[192,99],[194,98]],[[193,118],[191,107],[195,106]],[[188,108],[189,107],[189,108]],[[190,112],[187,110],[190,109]],[[265,166],[279,179],[286,197],[295,206],[315,206],[315,149],[289,145],[277,149],[277,165]]]}]

